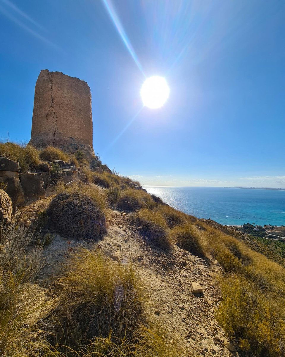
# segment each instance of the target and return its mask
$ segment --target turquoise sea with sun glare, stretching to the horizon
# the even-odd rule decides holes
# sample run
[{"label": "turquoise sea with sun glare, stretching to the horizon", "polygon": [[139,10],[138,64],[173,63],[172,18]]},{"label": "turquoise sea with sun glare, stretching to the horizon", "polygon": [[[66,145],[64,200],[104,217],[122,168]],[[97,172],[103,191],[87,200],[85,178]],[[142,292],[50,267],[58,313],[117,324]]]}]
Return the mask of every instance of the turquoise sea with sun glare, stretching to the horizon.
[{"label": "turquoise sea with sun glare, stretching to the horizon", "polygon": [[285,191],[223,187],[145,186],[177,210],[223,225],[285,225]]}]

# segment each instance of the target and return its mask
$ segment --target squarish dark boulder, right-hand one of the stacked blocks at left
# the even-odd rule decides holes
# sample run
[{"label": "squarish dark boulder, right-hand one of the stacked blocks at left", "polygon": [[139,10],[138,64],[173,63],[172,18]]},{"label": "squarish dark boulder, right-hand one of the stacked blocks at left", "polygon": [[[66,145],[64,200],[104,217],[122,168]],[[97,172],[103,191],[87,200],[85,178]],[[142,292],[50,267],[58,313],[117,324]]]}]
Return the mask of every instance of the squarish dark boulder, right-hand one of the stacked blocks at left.
[{"label": "squarish dark boulder, right-hand one of the stacked blocks at left", "polygon": [[43,179],[41,174],[20,174],[21,185],[25,197],[28,198],[45,198],[46,191],[42,187]]}]

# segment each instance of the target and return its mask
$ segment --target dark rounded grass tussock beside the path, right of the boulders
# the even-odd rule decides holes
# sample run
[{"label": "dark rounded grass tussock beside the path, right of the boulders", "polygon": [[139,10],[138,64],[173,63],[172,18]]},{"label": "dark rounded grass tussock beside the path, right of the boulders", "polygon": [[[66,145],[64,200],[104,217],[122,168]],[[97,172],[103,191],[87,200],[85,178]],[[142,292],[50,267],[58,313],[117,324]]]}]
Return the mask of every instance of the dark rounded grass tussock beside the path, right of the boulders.
[{"label": "dark rounded grass tussock beside the path, right of the boulders", "polygon": [[66,237],[102,239],[107,231],[102,206],[82,193],[58,193],[47,214],[58,232]]}]

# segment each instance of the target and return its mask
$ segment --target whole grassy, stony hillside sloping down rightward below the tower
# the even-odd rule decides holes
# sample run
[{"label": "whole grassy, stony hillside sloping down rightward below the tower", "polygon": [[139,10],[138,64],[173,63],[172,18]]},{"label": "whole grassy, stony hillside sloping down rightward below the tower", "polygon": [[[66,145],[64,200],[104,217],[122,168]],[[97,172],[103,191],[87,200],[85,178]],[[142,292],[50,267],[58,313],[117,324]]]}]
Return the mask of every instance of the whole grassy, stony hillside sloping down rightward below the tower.
[{"label": "whole grassy, stony hillside sloping down rightward below the tower", "polygon": [[23,185],[39,165],[51,173],[45,197],[25,188],[2,218],[1,355],[285,353],[279,255],[165,205],[98,157],[90,166],[80,152],[0,149]]}]

